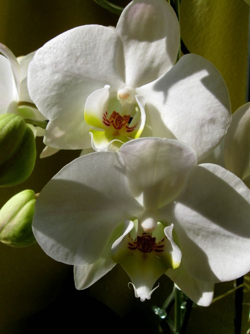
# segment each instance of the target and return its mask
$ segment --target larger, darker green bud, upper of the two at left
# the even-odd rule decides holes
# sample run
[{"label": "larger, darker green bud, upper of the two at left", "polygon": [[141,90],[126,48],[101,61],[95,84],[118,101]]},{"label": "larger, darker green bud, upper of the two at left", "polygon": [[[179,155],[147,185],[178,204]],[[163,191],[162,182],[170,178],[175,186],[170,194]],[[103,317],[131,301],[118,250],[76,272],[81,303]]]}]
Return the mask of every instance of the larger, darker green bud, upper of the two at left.
[{"label": "larger, darker green bud, upper of the two at left", "polygon": [[0,115],[0,187],[25,181],[35,157],[34,135],[25,121],[15,114]]}]

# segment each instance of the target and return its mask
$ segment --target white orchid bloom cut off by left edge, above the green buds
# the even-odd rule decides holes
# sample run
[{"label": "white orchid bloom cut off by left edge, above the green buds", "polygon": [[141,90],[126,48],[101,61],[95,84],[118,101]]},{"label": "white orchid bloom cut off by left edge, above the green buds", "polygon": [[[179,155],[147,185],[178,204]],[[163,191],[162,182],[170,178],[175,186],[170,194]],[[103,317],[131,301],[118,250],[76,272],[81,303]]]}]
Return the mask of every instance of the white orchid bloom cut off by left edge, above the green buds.
[{"label": "white orchid bloom cut off by left edge, above the green buds", "polygon": [[[27,89],[27,69],[34,52],[15,58],[13,53],[0,43],[0,114],[17,114],[32,120],[45,120],[32,102]],[[43,135],[44,129],[28,124],[34,135]]]}]

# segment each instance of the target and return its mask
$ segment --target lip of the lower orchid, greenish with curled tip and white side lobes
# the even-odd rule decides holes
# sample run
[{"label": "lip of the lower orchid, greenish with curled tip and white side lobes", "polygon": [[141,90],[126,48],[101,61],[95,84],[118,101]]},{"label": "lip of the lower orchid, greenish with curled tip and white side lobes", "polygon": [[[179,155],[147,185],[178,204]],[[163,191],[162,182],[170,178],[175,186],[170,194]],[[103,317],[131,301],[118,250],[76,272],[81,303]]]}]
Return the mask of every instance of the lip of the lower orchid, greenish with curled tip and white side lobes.
[{"label": "lip of the lower orchid, greenish with curled tip and white side lobes", "polygon": [[165,232],[167,240],[163,238],[158,244],[155,244],[154,249],[149,252],[136,249],[136,246],[134,246],[129,234],[133,227],[132,222],[128,225],[127,231],[112,245],[113,260],[120,263],[121,267],[128,274],[132,281],[135,296],[139,297],[141,301],[150,299],[151,293],[155,289],[152,289],[155,281],[169,267],[178,266],[180,263],[181,252],[172,241],[172,226],[166,227],[164,232],[160,226],[161,224],[158,224],[160,230],[158,233],[164,236]]}]

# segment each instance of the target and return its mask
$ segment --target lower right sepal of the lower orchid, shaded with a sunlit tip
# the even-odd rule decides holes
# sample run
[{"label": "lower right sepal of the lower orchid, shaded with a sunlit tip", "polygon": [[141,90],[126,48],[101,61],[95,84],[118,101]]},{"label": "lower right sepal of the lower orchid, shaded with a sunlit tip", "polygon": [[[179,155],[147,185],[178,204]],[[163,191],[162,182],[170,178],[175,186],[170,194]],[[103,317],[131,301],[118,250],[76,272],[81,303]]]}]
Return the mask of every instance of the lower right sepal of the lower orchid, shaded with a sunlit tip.
[{"label": "lower right sepal of the lower orchid, shaded with a sunlit tip", "polygon": [[168,269],[166,275],[196,304],[209,306],[212,302],[214,284],[191,277],[182,264],[176,269]]}]

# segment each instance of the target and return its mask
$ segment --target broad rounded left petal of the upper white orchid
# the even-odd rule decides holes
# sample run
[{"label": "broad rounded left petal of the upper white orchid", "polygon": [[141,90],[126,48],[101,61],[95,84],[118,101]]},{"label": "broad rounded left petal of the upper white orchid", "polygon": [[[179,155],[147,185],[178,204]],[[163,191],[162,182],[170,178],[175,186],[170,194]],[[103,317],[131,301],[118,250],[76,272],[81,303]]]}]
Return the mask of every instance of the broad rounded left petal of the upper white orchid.
[{"label": "broad rounded left petal of the upper white orchid", "polygon": [[120,46],[112,29],[90,25],[71,29],[37,50],[28,68],[28,90],[40,112],[49,120],[67,117],[77,125],[90,93],[122,83],[115,65]]}]

